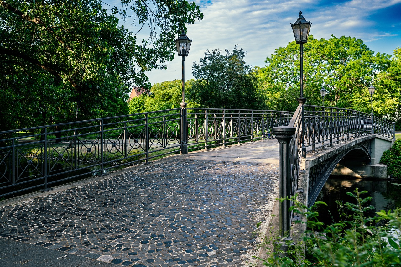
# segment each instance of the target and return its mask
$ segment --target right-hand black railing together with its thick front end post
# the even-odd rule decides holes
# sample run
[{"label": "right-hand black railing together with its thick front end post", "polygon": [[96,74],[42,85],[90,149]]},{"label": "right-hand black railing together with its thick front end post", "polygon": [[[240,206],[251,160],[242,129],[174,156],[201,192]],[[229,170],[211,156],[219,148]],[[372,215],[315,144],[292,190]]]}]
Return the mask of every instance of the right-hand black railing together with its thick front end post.
[{"label": "right-hand black railing together with its thick front end post", "polygon": [[[303,103],[298,105],[287,126],[275,127],[273,132],[279,142],[279,198],[282,199],[279,202],[279,235],[284,243],[292,239],[290,207],[298,188],[301,158],[306,157],[306,152],[364,135],[379,134],[395,139],[394,124],[384,119],[351,109]],[[326,161],[332,164],[331,158]],[[327,165],[324,164],[310,170],[310,175],[321,173]],[[309,180],[309,194],[311,186],[316,187],[318,182],[317,178]]]}]

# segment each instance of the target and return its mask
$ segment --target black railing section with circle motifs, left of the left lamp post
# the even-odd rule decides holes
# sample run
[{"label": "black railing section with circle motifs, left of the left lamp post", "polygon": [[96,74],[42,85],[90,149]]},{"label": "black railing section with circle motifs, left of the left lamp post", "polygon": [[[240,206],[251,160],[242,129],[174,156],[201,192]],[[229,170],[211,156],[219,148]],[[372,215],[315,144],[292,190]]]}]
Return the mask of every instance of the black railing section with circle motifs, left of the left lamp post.
[{"label": "black railing section with circle motifs, left of the left lamp post", "polygon": [[0,132],[0,197],[178,153],[180,111]]}]

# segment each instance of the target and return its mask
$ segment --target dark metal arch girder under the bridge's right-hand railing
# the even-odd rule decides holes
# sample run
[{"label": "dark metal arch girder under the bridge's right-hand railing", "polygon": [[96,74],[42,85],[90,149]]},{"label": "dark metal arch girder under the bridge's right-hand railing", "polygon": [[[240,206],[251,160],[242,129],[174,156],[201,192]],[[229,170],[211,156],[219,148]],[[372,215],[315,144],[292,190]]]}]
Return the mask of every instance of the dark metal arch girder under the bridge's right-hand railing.
[{"label": "dark metal arch girder under the bridge's right-hand railing", "polygon": [[[365,138],[362,138],[365,139]],[[344,157],[351,153],[355,153],[365,159],[365,162],[370,163],[371,161],[371,146],[370,140],[364,140],[360,143],[354,144],[351,142],[352,146],[345,146],[341,151],[333,150],[335,153],[326,153],[314,160],[306,161],[305,164],[308,165],[308,207],[316,201],[320,191],[322,190],[324,183],[327,181],[328,177],[337,166],[337,164]],[[307,168],[307,167],[306,167]]]}]

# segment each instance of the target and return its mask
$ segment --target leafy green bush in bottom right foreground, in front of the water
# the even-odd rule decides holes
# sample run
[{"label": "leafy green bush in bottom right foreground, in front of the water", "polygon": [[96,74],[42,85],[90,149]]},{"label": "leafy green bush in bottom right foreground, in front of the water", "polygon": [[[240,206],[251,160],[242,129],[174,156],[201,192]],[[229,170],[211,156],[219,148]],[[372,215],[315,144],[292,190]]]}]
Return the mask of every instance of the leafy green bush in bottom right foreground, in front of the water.
[{"label": "leafy green bush in bottom right foreground, in front of the water", "polygon": [[[351,211],[340,223],[324,225],[312,208],[296,202],[294,212],[306,216],[308,230],[299,242],[283,256],[282,251],[270,251],[263,260],[264,266],[400,266],[401,218],[400,209],[381,210],[375,217],[364,214],[373,206],[366,206],[370,197],[362,198],[367,191],[348,192],[356,204],[346,202],[341,208]],[[316,202],[324,204],[324,202]],[[297,221],[296,223],[302,223]],[[266,245],[274,245],[274,238]],[[303,252],[302,244],[306,244]]]}]

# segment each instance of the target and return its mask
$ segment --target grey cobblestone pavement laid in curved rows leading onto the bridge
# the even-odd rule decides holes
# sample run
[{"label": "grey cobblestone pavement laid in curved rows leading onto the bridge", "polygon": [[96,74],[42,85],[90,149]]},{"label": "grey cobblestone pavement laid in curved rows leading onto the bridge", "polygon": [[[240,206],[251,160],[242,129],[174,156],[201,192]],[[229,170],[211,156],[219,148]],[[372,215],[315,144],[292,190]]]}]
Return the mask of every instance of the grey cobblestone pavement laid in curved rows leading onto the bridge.
[{"label": "grey cobblestone pavement laid in curved rows leading onto the bridge", "polygon": [[0,207],[0,237],[123,266],[246,266],[277,178],[274,163],[175,156]]}]

